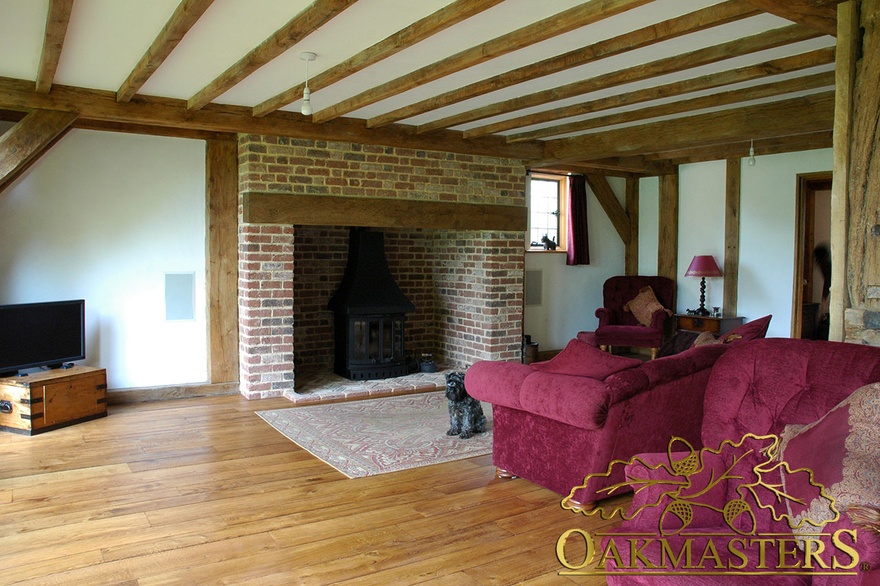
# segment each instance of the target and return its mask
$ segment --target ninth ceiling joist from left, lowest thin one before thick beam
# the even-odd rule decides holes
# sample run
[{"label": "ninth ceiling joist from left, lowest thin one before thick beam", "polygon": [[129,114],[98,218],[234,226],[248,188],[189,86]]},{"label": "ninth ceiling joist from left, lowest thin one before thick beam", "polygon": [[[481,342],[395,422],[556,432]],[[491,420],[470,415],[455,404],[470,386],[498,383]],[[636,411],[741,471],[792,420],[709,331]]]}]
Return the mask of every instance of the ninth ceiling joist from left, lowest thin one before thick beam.
[{"label": "ninth ceiling joist from left, lowest thin one before thick beam", "polygon": [[517,142],[525,136],[534,140],[535,134],[545,137],[560,136],[562,134],[570,134],[573,132],[581,132],[584,130],[593,130],[616,124],[627,124],[630,122],[638,122],[640,120],[650,120],[661,116],[670,116],[673,114],[682,114],[685,112],[694,112],[697,110],[705,110],[707,108],[716,108],[719,106],[729,106],[750,100],[758,100],[762,98],[770,98],[792,94],[806,90],[815,90],[819,88],[834,87],[834,72],[826,71],[824,73],[815,73],[803,77],[795,77],[784,81],[764,83],[751,87],[730,90],[710,94],[708,96],[700,96],[698,98],[682,99],[668,104],[660,104],[658,106],[649,106],[637,110],[629,110],[617,114],[609,114],[607,116],[598,116],[569,124],[562,124],[552,128],[544,128],[535,133],[517,135],[517,138],[510,142]]}]

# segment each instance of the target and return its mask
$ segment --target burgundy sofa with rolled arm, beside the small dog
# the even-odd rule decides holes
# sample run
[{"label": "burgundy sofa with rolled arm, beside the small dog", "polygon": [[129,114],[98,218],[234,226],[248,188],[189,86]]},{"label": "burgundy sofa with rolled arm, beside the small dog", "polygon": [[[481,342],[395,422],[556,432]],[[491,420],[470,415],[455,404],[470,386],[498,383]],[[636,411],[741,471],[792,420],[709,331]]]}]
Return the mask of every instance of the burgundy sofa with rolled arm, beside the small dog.
[{"label": "burgundy sofa with rolled arm, beside the small dog", "polygon": [[[642,362],[574,339],[547,362],[477,362],[465,386],[492,404],[498,476],[568,494],[613,459],[665,449],[671,434],[699,445],[703,391],[729,347],[701,346]],[[604,496],[597,491],[621,480],[589,486],[575,500],[590,508]]]}]

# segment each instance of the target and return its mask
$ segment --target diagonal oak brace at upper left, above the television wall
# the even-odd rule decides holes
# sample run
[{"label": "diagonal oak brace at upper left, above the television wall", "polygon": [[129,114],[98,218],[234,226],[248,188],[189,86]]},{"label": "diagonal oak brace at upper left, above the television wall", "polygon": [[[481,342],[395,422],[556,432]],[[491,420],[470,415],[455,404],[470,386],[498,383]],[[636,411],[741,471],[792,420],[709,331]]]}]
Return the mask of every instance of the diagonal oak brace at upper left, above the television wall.
[{"label": "diagonal oak brace at upper left, above the television wall", "polygon": [[0,135],[0,191],[66,132],[76,114],[36,110]]}]

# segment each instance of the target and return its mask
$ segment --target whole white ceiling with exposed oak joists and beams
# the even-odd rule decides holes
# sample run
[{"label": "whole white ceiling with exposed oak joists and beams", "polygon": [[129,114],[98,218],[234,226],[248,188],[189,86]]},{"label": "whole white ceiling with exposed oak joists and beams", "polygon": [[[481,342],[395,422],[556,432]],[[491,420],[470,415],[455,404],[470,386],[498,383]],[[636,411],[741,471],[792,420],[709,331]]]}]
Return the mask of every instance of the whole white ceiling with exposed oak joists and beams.
[{"label": "whole white ceiling with exposed oak joists and beams", "polygon": [[0,117],[653,174],[830,146],[836,4],[0,0]]}]

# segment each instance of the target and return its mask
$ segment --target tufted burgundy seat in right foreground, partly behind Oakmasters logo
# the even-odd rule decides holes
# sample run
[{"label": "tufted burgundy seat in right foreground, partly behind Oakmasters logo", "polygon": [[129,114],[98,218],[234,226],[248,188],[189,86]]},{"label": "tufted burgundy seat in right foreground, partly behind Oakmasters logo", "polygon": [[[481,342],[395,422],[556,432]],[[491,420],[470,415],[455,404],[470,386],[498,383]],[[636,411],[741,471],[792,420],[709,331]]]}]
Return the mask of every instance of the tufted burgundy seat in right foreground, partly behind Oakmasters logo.
[{"label": "tufted burgundy seat in right foreground, partly behind Oakmasters logo", "polygon": [[[810,483],[818,482],[836,499],[840,517],[821,529],[804,523],[802,530],[825,534],[820,538],[823,544],[812,549],[823,549],[826,561],[831,565],[828,556],[840,550],[835,549],[829,535],[839,529],[855,529],[855,544],[848,535],[841,537],[858,552],[859,563],[852,568],[854,575],[844,576],[840,571],[829,575],[805,573],[804,546],[795,548],[791,545],[795,542],[789,540],[786,548],[790,551],[784,554],[783,562],[787,566],[800,565],[800,568],[789,570],[786,575],[719,575],[717,572],[713,574],[711,567],[709,575],[701,576],[633,575],[633,570],[624,568],[621,571],[611,561],[606,564],[606,569],[612,572],[608,584],[717,583],[724,586],[756,581],[761,584],[880,584],[880,534],[861,523],[856,525],[854,517],[850,516],[859,513],[860,507],[864,510],[867,506],[874,514],[880,508],[880,442],[877,441],[880,439],[880,384],[865,386],[877,381],[880,381],[880,348],[876,347],[771,338],[731,348],[712,369],[703,407],[702,444],[707,449],[718,450],[720,455],[700,454],[700,467],[694,468],[695,472],[687,476],[687,488],[680,493],[680,499],[669,490],[678,490],[685,473],[680,465],[671,462],[683,462],[686,456],[693,457],[694,452],[637,456],[625,466],[630,488],[637,489],[627,512],[631,518],[616,530],[624,534],[658,535],[663,527],[672,551],[679,551],[685,541],[691,539],[692,551],[702,552],[707,546],[707,536],[715,536],[714,545],[724,566],[731,562],[736,566],[745,565],[743,570],[760,572],[756,556],[747,555],[748,564],[732,558],[726,545],[742,536],[730,536],[733,533],[731,528],[737,527],[736,531],[757,537],[767,534],[785,537],[792,536],[792,526],[797,527],[803,522],[803,517],[794,516],[796,513],[821,521],[823,511],[827,509],[820,505],[825,501],[819,499],[815,492],[818,489],[810,486]],[[723,445],[725,440],[739,442],[746,434],[759,437],[781,435],[784,441],[775,456],[772,452],[760,452],[771,440],[750,438],[739,448]],[[723,449],[719,450],[721,447]],[[747,447],[753,450],[748,452]],[[696,444],[694,448],[698,451]],[[743,460],[736,464],[736,468],[730,468],[737,454],[743,455]],[[770,498],[774,495],[762,487],[758,487],[756,493],[743,489],[746,481],[742,478],[753,480],[753,467],[767,461],[774,464],[785,461],[790,470],[780,472],[779,467],[770,466],[771,471],[763,480],[768,484],[778,483],[786,493],[804,502]],[[728,469],[734,471],[728,474],[731,478],[719,482],[711,491],[705,491],[704,485],[708,486],[711,479],[722,478]],[[809,470],[813,476],[791,472],[796,470]],[[665,481],[671,483],[664,484]],[[656,484],[658,482],[661,484]],[[690,501],[692,497],[687,491],[699,499]],[[673,505],[673,500],[679,502]],[[752,511],[753,521],[749,520],[748,514],[740,514],[734,517],[732,525],[725,525],[726,517],[719,511],[736,500],[748,503],[748,507],[743,508]],[[701,504],[685,507],[688,513],[684,514],[681,502],[685,501]],[[766,508],[768,505],[772,509]],[[810,506],[817,508],[808,508]],[[784,516],[786,513],[789,517]],[[830,512],[824,519],[829,518]],[[858,516],[855,518],[863,520]],[[670,520],[675,523],[670,524]],[[673,530],[667,531],[670,528]],[[728,534],[726,538],[722,536],[725,533]],[[609,546],[609,539],[614,538],[606,537],[601,545],[603,549]],[[766,566],[770,573],[778,567],[778,551],[776,546],[766,548]],[[648,547],[642,555],[650,563],[660,565],[656,550]],[[837,555],[841,565],[852,562],[852,556],[846,553]],[[811,565],[816,570],[823,570],[818,562]],[[645,568],[642,562],[636,566]]]}]

